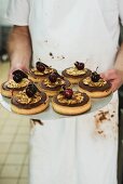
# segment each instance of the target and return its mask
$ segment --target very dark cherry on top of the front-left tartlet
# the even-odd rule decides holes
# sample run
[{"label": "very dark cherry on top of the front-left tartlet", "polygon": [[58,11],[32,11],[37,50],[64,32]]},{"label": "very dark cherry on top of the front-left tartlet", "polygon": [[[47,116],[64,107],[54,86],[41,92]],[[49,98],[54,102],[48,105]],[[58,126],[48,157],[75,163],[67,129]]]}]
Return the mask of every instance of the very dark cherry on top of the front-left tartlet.
[{"label": "very dark cherry on top of the front-left tartlet", "polygon": [[37,87],[33,83],[28,84],[26,88],[26,94],[28,97],[32,97],[38,91]]}]

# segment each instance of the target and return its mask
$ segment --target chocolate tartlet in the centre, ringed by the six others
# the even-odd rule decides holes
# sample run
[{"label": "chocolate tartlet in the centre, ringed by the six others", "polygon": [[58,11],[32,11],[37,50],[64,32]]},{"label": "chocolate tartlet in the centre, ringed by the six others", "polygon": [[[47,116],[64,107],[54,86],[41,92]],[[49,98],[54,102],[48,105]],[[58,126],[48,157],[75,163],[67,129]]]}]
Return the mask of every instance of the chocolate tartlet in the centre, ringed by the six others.
[{"label": "chocolate tartlet in the centre, ringed by the six others", "polygon": [[49,75],[49,77],[40,83],[41,91],[44,91],[49,96],[57,94],[63,86],[69,88],[71,83],[69,80],[64,79],[63,76],[58,75],[58,73]]}]

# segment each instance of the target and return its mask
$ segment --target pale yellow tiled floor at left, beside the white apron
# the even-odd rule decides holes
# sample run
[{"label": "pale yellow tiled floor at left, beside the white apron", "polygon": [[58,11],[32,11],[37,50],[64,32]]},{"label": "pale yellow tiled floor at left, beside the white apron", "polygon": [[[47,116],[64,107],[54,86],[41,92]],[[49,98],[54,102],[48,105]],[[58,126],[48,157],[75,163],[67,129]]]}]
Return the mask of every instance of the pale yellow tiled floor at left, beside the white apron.
[{"label": "pale yellow tiled floor at left, beside the white apron", "polygon": [[[0,63],[0,83],[9,63]],[[29,120],[0,105],[0,184],[28,184]]]}]

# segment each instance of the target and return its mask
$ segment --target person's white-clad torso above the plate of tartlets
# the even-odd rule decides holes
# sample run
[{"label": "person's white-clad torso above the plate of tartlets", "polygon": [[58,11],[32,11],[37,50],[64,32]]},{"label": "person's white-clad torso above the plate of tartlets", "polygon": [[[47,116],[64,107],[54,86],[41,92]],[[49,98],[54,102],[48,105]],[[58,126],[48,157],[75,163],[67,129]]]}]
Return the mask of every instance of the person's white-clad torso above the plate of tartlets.
[{"label": "person's white-clad torso above the plate of tartlets", "polygon": [[33,62],[57,69],[83,61],[91,69],[113,67],[118,52],[117,0],[30,0]]}]

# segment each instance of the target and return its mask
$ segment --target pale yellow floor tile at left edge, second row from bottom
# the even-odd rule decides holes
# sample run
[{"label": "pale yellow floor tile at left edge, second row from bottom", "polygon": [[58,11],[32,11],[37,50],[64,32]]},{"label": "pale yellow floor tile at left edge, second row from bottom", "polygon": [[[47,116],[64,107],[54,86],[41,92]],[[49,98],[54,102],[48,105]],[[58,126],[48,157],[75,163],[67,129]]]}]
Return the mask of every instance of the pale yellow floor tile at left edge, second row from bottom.
[{"label": "pale yellow floor tile at left edge, second row from bottom", "polygon": [[20,174],[20,170],[22,170],[22,166],[4,165],[4,167],[2,168],[2,171],[1,171],[1,178],[18,178]]}]

